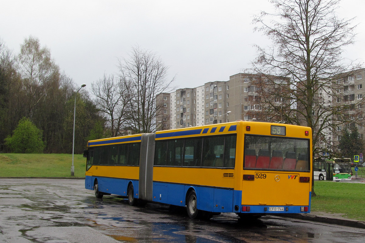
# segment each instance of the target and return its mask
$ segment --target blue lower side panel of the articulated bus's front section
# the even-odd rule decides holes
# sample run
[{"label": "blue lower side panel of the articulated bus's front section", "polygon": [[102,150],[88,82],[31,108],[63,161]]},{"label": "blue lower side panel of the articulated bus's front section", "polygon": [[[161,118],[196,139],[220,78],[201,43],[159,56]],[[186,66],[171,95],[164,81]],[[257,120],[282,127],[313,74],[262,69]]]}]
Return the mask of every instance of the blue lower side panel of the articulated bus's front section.
[{"label": "blue lower side panel of the articulated bus's front section", "polygon": [[[127,187],[130,182],[133,184],[134,188],[134,197],[138,198],[138,181],[130,180],[130,179],[120,179],[120,178],[108,178],[108,177],[95,177],[95,176],[86,176],[85,177],[85,188],[93,190],[94,189],[94,181],[97,180],[99,185],[99,191],[127,196]],[[137,195],[136,195],[137,194]]]}]

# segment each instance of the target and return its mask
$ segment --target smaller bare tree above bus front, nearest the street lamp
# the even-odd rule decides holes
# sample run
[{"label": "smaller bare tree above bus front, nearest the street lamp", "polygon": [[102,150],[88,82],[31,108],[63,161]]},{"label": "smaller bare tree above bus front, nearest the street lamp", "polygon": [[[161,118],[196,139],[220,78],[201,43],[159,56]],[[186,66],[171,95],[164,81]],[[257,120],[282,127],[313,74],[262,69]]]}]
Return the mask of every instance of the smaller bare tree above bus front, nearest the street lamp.
[{"label": "smaller bare tree above bus front, nearest the street lamp", "polygon": [[128,107],[127,86],[125,82],[116,79],[114,75],[107,76],[93,82],[92,94],[95,95],[95,105],[104,114],[111,136],[126,134],[126,120]]}]

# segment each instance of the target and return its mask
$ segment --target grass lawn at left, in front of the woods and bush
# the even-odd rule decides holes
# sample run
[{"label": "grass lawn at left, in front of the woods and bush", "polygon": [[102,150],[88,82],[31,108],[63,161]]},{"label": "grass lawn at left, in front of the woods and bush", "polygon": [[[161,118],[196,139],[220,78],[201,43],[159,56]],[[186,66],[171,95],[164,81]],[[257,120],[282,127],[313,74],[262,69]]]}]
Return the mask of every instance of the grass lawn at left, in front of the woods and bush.
[{"label": "grass lawn at left, in front of the woods and bush", "polygon": [[[0,154],[0,177],[72,177],[72,154]],[[74,155],[74,176],[85,177],[86,158]]]}]

